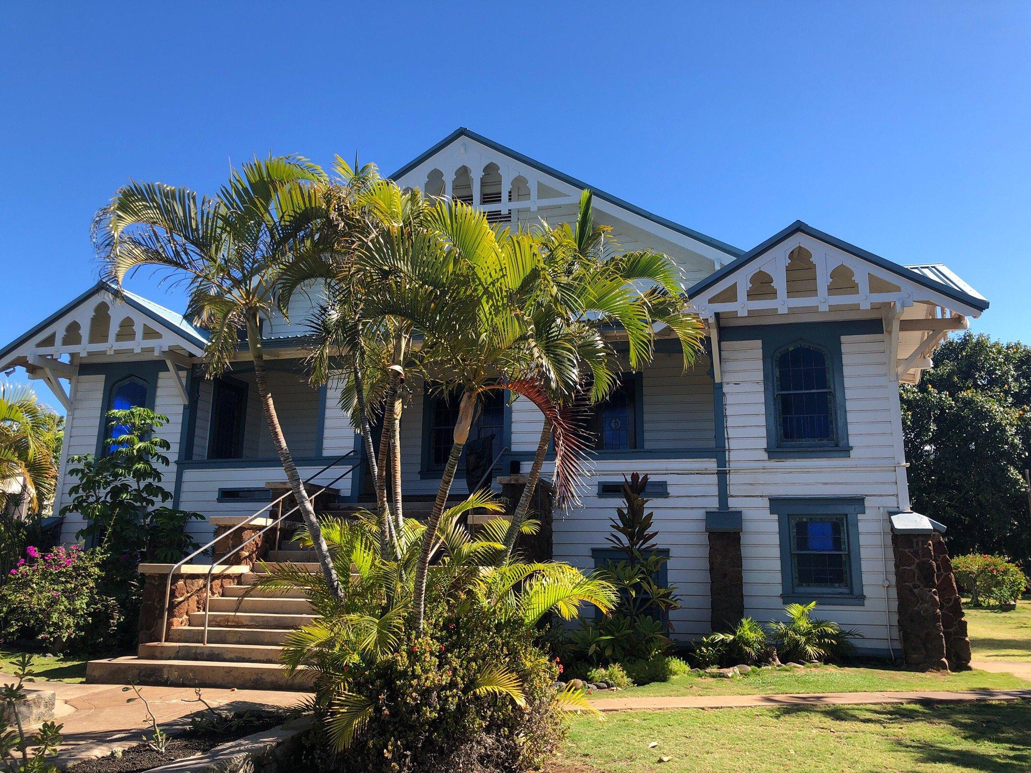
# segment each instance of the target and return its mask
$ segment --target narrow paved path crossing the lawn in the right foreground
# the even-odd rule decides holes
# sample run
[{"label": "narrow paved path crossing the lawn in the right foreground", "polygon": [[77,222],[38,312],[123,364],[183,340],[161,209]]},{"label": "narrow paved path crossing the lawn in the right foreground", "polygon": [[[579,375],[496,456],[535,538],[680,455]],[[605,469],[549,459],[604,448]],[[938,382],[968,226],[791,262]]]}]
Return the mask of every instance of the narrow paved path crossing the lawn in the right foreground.
[{"label": "narrow paved path crossing the lawn in the right foreground", "polygon": [[[753,706],[830,706],[861,703],[928,703],[934,701],[1031,700],[1031,690],[972,690],[963,693],[924,691],[916,693],[822,693],[808,695],[667,696],[662,698],[599,698],[591,705],[598,711],[631,711],[685,708],[747,708]],[[575,709],[574,709],[575,710]]]}]

